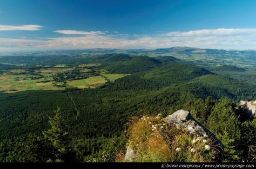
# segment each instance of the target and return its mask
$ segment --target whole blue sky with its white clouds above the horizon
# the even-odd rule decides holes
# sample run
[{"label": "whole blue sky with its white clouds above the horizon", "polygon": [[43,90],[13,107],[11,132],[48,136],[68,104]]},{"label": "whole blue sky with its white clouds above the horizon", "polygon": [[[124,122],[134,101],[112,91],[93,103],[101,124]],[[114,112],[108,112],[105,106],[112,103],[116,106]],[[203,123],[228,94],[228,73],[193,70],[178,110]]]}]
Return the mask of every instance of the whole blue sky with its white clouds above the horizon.
[{"label": "whole blue sky with its white clouds above the horizon", "polygon": [[256,0],[0,0],[0,52],[256,50]]}]

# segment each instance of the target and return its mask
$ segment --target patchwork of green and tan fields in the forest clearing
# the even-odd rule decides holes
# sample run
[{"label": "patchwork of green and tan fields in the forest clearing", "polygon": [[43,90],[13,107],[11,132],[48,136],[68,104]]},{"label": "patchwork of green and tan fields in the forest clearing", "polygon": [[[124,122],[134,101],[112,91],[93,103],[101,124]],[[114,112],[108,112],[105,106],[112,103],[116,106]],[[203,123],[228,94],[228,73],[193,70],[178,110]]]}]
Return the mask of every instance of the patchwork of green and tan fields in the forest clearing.
[{"label": "patchwork of green and tan fields in the forest clearing", "polygon": [[[15,93],[26,90],[64,90],[59,87],[64,83],[55,82],[53,75],[59,72],[72,70],[66,68],[48,68],[35,70],[38,75],[30,75],[26,69],[13,69],[0,75],[0,91],[5,93]],[[87,72],[89,69],[81,69],[81,72]],[[97,88],[107,81],[115,81],[125,75],[122,74],[106,74],[101,71],[102,75],[96,75],[87,79],[67,81],[67,88]],[[58,86],[58,87],[57,87]]]}]

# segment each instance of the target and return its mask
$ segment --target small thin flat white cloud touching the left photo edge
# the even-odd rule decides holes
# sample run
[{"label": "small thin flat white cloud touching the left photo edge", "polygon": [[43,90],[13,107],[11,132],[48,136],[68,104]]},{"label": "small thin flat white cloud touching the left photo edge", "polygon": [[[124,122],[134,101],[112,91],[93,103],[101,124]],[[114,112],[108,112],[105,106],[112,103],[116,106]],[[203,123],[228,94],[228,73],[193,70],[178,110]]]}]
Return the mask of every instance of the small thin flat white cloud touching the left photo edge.
[{"label": "small thin flat white cloud touching the left photo edge", "polygon": [[11,25],[0,25],[0,31],[38,31],[43,26],[40,25],[20,25],[20,26],[11,26]]}]

